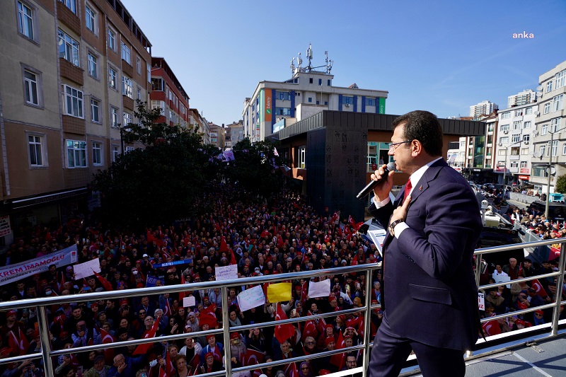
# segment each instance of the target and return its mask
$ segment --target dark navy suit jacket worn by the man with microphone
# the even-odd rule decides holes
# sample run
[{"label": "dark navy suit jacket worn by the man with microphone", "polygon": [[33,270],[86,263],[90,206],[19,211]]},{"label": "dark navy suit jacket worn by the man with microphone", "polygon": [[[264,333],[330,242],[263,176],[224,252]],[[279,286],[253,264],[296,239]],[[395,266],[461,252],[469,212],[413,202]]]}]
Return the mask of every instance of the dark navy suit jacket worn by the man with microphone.
[{"label": "dark navy suit jacket worn by the man with microphone", "polygon": [[[434,347],[468,350],[478,340],[478,287],[473,251],[482,222],[468,182],[446,161],[432,164],[413,182],[405,223],[383,243],[385,315],[397,335]],[[394,203],[369,211],[387,228]]]}]

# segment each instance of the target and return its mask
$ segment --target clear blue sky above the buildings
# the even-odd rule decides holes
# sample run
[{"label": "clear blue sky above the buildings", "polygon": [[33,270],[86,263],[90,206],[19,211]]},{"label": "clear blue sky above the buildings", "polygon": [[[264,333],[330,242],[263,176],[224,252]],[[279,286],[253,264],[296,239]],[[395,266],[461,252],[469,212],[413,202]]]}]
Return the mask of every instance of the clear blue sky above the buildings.
[{"label": "clear blue sky above the buildings", "polygon": [[[566,0],[122,3],[190,107],[216,124],[240,120],[259,81],[289,79],[309,42],[313,65],[325,50],[334,60],[333,85],[388,91],[388,114],[468,116],[482,100],[506,108],[566,60]],[[512,37],[523,32],[534,37]]]}]

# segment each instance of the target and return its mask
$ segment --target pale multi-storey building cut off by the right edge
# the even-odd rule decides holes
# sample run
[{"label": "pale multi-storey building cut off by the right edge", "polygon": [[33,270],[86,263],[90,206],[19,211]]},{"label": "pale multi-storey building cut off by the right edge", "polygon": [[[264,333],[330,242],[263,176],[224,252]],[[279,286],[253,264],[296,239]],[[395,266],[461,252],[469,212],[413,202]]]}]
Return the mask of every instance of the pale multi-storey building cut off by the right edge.
[{"label": "pale multi-storey building cut off by the right edge", "polygon": [[[533,131],[533,169],[531,182],[535,188],[554,192],[555,178],[566,174],[566,61],[538,78],[541,98],[538,99]],[[550,187],[548,166],[550,164]]]}]

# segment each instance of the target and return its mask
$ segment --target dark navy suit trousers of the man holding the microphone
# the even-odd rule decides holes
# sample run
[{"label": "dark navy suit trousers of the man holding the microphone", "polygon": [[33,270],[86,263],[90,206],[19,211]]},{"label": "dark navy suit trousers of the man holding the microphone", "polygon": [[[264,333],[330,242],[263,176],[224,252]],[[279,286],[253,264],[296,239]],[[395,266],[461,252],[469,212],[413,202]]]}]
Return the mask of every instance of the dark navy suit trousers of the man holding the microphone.
[{"label": "dark navy suit trousers of the man holding the microphone", "polygon": [[398,376],[411,350],[415,351],[424,377],[459,377],[466,374],[463,351],[432,347],[400,337],[393,332],[384,316],[371,349],[369,376]]}]

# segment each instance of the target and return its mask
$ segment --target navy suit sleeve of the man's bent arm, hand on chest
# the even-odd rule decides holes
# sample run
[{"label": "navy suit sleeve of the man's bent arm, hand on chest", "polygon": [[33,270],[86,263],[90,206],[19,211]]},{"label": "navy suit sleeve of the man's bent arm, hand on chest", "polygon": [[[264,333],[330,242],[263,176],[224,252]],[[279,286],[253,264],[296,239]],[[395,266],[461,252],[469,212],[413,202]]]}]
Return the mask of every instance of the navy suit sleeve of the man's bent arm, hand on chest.
[{"label": "navy suit sleeve of the man's bent arm, hand on chest", "polygon": [[[409,209],[407,224],[424,218],[424,228],[422,232],[405,229],[398,238],[399,249],[431,277],[451,277],[463,257],[468,257],[466,251],[475,248],[481,219],[478,202],[466,189],[458,182],[438,185],[432,195],[435,199],[420,207],[424,213],[414,214]],[[418,219],[411,219],[415,215]]]}]

